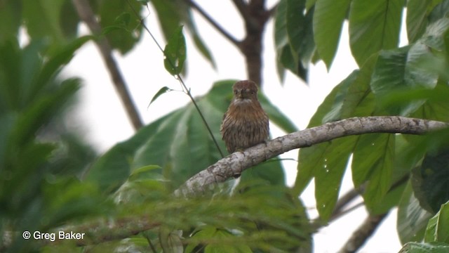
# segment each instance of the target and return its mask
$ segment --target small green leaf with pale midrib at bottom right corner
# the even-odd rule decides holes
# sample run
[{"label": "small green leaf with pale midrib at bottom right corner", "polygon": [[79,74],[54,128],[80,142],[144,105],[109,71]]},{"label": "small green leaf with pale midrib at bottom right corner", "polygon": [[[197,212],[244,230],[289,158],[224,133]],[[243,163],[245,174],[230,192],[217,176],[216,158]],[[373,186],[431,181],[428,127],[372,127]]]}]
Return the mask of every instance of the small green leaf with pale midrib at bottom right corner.
[{"label": "small green leaf with pale midrib at bottom right corner", "polygon": [[424,242],[449,243],[449,202],[441,205],[440,211],[429,220]]}]

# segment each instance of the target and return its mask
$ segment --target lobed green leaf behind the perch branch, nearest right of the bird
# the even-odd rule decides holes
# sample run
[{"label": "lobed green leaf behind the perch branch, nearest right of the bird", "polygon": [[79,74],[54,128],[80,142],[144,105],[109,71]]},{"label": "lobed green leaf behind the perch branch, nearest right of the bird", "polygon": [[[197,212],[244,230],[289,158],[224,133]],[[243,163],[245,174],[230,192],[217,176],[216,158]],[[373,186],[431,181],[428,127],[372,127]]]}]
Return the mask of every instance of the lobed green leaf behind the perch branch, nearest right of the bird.
[{"label": "lobed green leaf behind the perch branch, nearest right of the bird", "polygon": [[[338,84],[321,103],[308,127],[323,123],[329,112],[339,113],[348,86],[354,82],[357,72]],[[339,105],[340,104],[340,105]],[[315,178],[316,205],[321,219],[328,219],[337,201],[344,169],[354,148],[355,136],[301,148],[298,155],[297,177],[294,195],[300,195],[311,179]]]}]

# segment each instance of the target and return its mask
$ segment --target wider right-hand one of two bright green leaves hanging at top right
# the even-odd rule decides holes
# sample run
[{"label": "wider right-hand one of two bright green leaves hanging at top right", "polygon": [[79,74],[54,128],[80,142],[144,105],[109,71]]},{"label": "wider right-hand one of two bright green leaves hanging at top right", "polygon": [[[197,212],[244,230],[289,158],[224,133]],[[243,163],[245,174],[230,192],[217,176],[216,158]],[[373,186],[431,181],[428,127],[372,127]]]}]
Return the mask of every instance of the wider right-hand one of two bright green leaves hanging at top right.
[{"label": "wider right-hand one of two bright green leaves hanging at top right", "polygon": [[349,43],[359,66],[381,49],[398,45],[403,0],[354,0],[349,12]]}]

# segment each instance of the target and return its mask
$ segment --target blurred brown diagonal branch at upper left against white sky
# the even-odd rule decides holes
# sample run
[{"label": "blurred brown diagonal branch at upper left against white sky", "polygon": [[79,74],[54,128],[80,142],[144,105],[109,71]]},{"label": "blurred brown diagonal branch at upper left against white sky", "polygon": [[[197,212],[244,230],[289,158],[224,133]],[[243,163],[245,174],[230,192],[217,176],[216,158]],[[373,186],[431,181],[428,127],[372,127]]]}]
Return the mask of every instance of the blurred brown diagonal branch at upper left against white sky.
[{"label": "blurred brown diagonal branch at upper left against white sky", "polygon": [[[87,0],[72,0],[75,6],[76,12],[79,18],[86,23],[93,34],[101,34],[101,27],[98,21],[95,19],[95,14],[92,11],[91,6]],[[112,79],[114,87],[119,93],[121,102],[125,106],[128,118],[135,130],[140,129],[143,126],[142,119],[138,113],[137,108],[135,108],[134,102],[131,99],[130,93],[127,89],[125,79],[123,78],[119,66],[116,63],[114,56],[112,56],[112,48],[106,38],[98,39],[96,41],[103,60],[105,61],[107,70],[109,70],[109,75]]]}]

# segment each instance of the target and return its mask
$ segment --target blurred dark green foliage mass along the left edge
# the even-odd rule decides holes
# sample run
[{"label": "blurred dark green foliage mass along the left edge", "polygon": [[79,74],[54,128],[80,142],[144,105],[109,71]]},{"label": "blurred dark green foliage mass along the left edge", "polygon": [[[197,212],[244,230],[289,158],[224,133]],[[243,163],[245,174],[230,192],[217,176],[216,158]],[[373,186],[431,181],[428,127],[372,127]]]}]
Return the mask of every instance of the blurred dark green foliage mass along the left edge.
[{"label": "blurred dark green foliage mass along the left edge", "polygon": [[79,80],[56,75],[86,41],[81,37],[45,56],[39,53],[48,48],[44,41],[0,46],[0,236],[11,238],[10,252],[33,244],[11,231],[47,231],[100,211],[95,185],[76,179],[93,151],[73,133],[57,130]]}]

